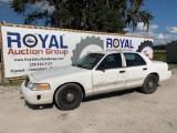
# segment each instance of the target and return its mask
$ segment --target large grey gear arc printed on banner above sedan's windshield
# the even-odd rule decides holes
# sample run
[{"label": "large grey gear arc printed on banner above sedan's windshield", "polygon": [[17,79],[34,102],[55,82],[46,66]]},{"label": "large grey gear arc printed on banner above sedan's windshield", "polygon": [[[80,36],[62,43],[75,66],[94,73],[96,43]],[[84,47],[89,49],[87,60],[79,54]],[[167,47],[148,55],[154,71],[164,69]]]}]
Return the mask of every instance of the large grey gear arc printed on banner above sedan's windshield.
[{"label": "large grey gear arc printed on banner above sedan's windshield", "polygon": [[86,37],[85,39],[82,39],[80,43],[76,43],[76,48],[73,50],[73,57],[71,58],[72,63],[75,63],[80,59],[82,50],[90,44],[95,44],[102,50],[104,49],[104,41],[101,40],[100,37]]}]

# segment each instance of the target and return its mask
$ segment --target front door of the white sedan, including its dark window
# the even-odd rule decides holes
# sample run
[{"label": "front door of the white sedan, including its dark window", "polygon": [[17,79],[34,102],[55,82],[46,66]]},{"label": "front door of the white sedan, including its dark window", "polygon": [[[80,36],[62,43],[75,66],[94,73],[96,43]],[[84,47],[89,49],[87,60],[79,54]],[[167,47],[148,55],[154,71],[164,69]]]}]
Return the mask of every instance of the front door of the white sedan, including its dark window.
[{"label": "front door of the white sedan, including its dark window", "polygon": [[123,68],[121,53],[106,55],[92,73],[93,94],[125,88],[126,72],[125,68]]}]

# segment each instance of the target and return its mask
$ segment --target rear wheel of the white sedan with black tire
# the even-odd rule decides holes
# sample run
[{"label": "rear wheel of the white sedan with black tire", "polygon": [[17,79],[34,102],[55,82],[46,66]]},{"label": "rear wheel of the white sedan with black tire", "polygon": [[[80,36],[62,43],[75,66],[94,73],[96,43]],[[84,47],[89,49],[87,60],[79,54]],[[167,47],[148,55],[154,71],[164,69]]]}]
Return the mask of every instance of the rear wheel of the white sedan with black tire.
[{"label": "rear wheel of the white sedan with black tire", "polygon": [[157,90],[158,86],[158,78],[154,74],[149,74],[146,76],[140,91],[145,94],[152,94]]}]

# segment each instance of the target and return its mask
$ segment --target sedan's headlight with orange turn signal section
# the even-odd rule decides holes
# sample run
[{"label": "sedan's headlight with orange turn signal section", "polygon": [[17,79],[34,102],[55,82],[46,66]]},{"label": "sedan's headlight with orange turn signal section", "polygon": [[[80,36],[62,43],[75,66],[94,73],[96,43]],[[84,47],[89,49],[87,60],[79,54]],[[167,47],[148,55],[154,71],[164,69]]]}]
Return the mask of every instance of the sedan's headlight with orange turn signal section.
[{"label": "sedan's headlight with orange turn signal section", "polygon": [[29,82],[28,88],[33,90],[33,91],[49,90],[50,89],[50,84],[48,84],[48,83],[32,83],[32,82]]}]

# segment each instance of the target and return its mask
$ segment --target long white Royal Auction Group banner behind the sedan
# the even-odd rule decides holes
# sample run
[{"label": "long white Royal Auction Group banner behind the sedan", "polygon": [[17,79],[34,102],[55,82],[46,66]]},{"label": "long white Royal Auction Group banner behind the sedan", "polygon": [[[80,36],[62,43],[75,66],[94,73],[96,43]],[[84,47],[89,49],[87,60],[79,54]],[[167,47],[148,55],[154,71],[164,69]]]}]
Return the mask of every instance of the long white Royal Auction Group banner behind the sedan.
[{"label": "long white Royal Auction Group banner behind the sedan", "polygon": [[146,43],[153,39],[14,27],[1,27],[1,31],[6,78],[67,65],[93,51],[140,50],[153,58]]}]

